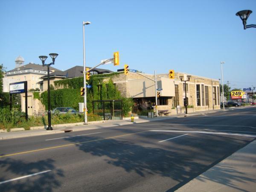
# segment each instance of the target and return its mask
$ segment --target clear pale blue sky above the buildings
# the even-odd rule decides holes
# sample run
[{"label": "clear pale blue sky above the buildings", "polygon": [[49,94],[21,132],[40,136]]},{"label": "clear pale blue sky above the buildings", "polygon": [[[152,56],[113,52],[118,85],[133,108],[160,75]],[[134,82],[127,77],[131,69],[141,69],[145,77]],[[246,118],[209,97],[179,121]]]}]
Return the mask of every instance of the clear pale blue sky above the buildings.
[{"label": "clear pale blue sky above the buildings", "polygon": [[[58,53],[55,67],[86,66],[119,51],[120,65],[143,73],[169,70],[212,79],[230,87],[256,86],[256,28],[243,29],[235,14],[250,9],[256,24],[256,0],[0,0],[0,64],[15,68],[41,64],[39,55]],[[47,62],[51,62],[50,57]]]}]

